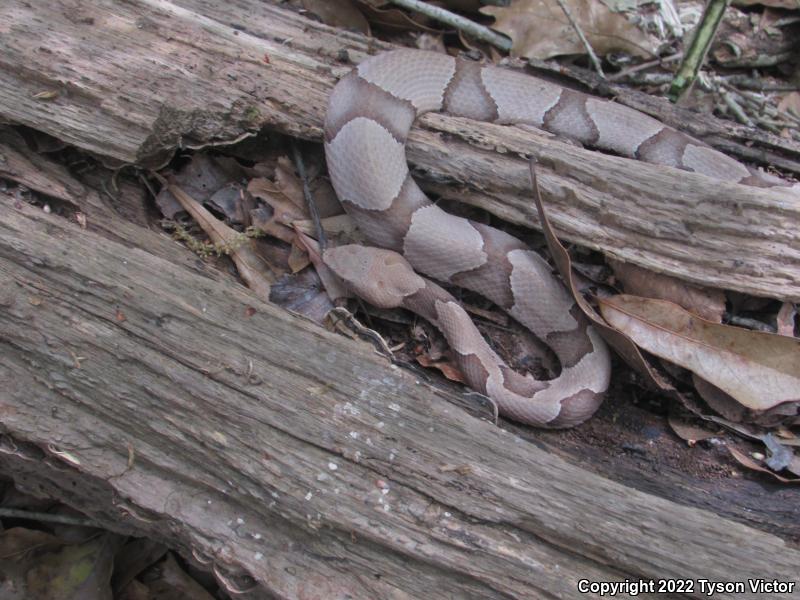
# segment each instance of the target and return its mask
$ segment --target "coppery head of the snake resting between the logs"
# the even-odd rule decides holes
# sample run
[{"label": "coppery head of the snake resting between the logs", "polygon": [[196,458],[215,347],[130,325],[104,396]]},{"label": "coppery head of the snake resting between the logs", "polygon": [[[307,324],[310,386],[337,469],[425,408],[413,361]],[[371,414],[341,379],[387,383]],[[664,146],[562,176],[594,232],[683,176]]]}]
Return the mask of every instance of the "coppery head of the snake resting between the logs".
[{"label": "coppery head of the snake resting between the logs", "polygon": [[357,296],[379,308],[397,308],[425,287],[397,252],[349,244],[325,250],[323,262]]}]

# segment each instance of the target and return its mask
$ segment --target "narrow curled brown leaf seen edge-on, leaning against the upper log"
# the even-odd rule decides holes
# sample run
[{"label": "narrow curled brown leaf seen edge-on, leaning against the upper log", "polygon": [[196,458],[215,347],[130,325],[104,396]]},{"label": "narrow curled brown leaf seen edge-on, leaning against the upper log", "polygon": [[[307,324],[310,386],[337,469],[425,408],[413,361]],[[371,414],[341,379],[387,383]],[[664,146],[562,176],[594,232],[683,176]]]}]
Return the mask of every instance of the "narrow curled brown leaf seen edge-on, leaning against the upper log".
[{"label": "narrow curled brown leaf seen edge-on, leaning against the upper log", "polygon": [[530,173],[531,184],[533,186],[533,202],[536,205],[537,212],[539,213],[539,223],[541,223],[542,232],[544,233],[545,240],[547,241],[547,248],[550,250],[550,254],[553,256],[553,262],[556,263],[558,273],[567,284],[567,289],[569,289],[572,297],[575,299],[575,302],[578,304],[581,311],[583,311],[583,314],[585,314],[586,317],[594,324],[594,326],[597,327],[600,335],[603,336],[603,339],[608,343],[608,345],[616,350],[630,367],[642,375],[642,377],[644,377],[645,381],[651,387],[661,390],[662,392],[675,394],[675,388],[647,363],[642,356],[642,353],[639,352],[639,348],[637,348],[636,344],[631,341],[627,335],[617,331],[613,327],[609,326],[608,323],[603,321],[600,315],[597,314],[597,311],[595,311],[592,305],[589,304],[583,297],[583,294],[581,294],[575,279],[575,275],[572,272],[572,260],[570,259],[569,254],[564,246],[562,246],[561,242],[558,241],[558,238],[553,231],[553,227],[550,225],[550,219],[547,217],[547,214],[544,211],[542,194],[541,190],[539,189],[538,180],[536,179],[536,166],[533,162],[530,163]]}]

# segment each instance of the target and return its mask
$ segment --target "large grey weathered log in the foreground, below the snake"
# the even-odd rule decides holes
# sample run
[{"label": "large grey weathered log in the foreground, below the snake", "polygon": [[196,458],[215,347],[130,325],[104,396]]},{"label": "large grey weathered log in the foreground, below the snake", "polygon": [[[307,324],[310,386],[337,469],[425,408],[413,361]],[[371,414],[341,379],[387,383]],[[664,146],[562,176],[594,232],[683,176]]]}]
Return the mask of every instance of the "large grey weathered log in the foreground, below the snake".
[{"label": "large grey weathered log in the foreground, below the snake", "polygon": [[776,536],[586,472],[364,344],[5,195],[0,331],[0,467],[262,596],[798,579]]}]

